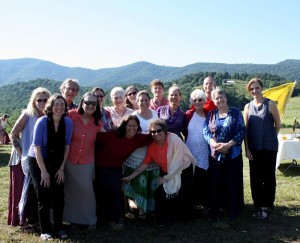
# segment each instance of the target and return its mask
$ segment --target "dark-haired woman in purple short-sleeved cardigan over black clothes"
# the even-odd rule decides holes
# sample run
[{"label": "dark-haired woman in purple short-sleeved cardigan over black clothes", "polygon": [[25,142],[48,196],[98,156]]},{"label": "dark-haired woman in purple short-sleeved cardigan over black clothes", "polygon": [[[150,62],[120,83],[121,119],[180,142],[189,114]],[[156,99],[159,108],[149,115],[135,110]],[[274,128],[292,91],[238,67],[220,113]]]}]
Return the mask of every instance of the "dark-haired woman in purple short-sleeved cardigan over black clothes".
[{"label": "dark-haired woman in purple short-sleeved cardigan over black clothes", "polygon": [[33,142],[28,152],[29,170],[38,198],[41,239],[52,239],[51,207],[54,229],[63,239],[67,237],[62,228],[64,166],[69,153],[73,123],[66,117],[67,102],[59,94],[49,98],[45,113],[34,126]]}]

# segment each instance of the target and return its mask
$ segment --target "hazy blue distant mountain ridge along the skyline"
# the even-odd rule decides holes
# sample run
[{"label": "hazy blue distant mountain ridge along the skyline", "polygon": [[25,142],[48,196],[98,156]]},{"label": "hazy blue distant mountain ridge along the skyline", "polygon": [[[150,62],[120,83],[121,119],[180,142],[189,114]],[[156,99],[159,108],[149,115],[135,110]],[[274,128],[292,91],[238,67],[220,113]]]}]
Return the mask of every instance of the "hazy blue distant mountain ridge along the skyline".
[{"label": "hazy blue distant mountain ridge along the skyline", "polygon": [[149,62],[136,62],[116,68],[92,70],[81,67],[65,67],[49,61],[34,58],[0,60],[0,86],[35,79],[63,81],[76,78],[83,86],[111,88],[131,83],[149,84],[154,78],[172,81],[184,75],[198,72],[270,73],[300,80],[300,60],[288,59],[277,64],[224,64],[194,63],[184,67],[155,65]]}]

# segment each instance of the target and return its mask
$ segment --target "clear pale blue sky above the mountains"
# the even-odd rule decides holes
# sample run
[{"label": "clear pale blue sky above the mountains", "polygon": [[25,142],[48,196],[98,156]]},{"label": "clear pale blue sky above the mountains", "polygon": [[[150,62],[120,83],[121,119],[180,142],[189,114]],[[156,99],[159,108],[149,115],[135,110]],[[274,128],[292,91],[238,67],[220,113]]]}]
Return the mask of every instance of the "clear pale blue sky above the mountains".
[{"label": "clear pale blue sky above the mountains", "polygon": [[300,59],[299,0],[2,0],[0,59],[69,67]]}]

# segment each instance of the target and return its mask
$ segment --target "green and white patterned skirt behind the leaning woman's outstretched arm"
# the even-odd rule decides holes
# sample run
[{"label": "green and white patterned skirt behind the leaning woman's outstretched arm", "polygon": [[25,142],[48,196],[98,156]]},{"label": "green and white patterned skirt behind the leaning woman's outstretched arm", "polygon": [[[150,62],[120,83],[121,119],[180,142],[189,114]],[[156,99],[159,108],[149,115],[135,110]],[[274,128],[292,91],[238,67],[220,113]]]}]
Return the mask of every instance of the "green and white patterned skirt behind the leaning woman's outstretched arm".
[{"label": "green and white patterned skirt behind the leaning woman's outstretched arm", "polygon": [[[147,147],[143,147],[131,154],[123,165],[124,176],[130,175],[136,170],[143,162],[146,152]],[[155,189],[158,176],[158,165],[151,163],[146,171],[139,174],[130,183],[124,184],[124,195],[134,199],[137,207],[142,208],[144,212],[153,212],[155,210]]]}]

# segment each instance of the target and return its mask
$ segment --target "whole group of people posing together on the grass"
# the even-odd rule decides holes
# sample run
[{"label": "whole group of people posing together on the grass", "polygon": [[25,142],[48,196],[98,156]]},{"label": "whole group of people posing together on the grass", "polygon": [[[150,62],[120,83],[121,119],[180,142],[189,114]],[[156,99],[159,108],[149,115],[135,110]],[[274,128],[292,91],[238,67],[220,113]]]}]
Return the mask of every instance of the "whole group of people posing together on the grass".
[{"label": "whole group of people posing together on the grass", "polygon": [[167,98],[161,80],[150,86],[152,99],[134,86],[113,88],[111,107],[104,107],[98,87],[76,106],[74,79],[62,83],[61,94],[35,89],[10,134],[8,224],[30,229],[38,221],[43,240],[52,232],[64,239],[63,222],[123,228],[132,203],[139,218],[155,213],[161,226],[189,220],[199,207],[213,219],[235,219],[244,205],[243,141],[253,216],[267,218],[275,200],[280,118],[276,104],[262,96],[262,81],[248,83],[253,100],[244,118],[212,77],[191,93],[186,112],[177,85]]}]

